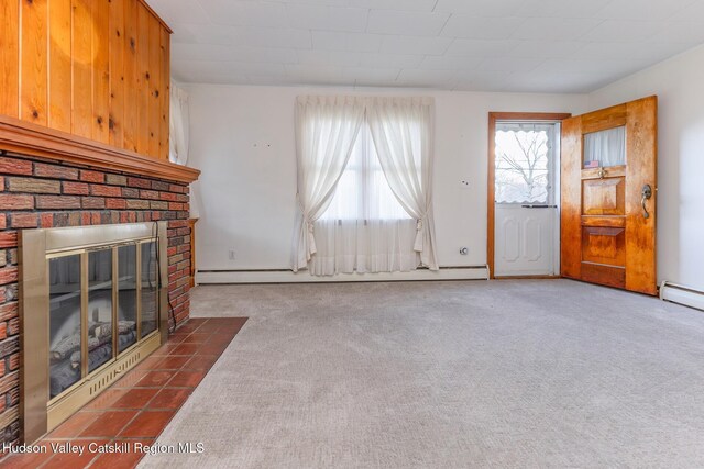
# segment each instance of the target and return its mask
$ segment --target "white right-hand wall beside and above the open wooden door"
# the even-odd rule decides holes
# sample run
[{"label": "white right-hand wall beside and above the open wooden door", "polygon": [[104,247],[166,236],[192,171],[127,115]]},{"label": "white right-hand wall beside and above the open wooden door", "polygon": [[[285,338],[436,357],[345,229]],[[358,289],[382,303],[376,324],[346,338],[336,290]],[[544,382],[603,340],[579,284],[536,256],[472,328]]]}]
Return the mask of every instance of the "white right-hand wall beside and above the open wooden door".
[{"label": "white right-hand wall beside and above the open wooden door", "polygon": [[704,46],[590,94],[590,109],[658,96],[658,281],[704,290]]}]

